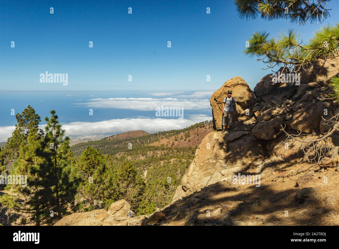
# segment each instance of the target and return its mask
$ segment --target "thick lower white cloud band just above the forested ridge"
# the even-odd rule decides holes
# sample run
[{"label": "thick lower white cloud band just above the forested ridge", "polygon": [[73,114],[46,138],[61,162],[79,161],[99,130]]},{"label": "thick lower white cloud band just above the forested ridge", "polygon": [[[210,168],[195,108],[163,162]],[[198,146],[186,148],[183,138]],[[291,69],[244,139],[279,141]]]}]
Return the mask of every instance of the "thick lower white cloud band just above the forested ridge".
[{"label": "thick lower white cloud band just above the forested ridge", "polygon": [[[185,115],[185,119],[164,119],[164,118],[135,118],[135,119],[111,119],[99,122],[72,122],[62,124],[62,129],[66,130],[66,136],[78,137],[85,135],[117,134],[132,130],[144,130],[154,133],[164,130],[182,129],[186,126],[212,120],[207,115]],[[39,125],[44,130],[46,125]],[[0,141],[7,141],[12,136],[15,126],[0,127]],[[108,136],[107,135],[107,136]]]}]

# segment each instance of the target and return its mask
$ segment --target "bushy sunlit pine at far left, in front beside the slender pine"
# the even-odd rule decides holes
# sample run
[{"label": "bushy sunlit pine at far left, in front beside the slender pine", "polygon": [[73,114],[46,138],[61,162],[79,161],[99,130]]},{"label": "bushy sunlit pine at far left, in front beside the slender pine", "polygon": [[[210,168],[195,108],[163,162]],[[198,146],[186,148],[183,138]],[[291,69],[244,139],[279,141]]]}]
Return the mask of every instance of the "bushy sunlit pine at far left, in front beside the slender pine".
[{"label": "bushy sunlit pine at far left, in front beside the slender pine", "polygon": [[[4,196],[1,201],[5,206],[30,214],[31,220],[25,224],[35,223],[36,226],[53,222],[49,216],[49,210],[54,203],[51,189],[51,161],[44,147],[38,129],[32,128],[27,144],[25,141],[21,143],[18,159],[13,164],[11,188],[18,196]],[[14,175],[21,176],[19,178],[21,185],[14,182]]]}]

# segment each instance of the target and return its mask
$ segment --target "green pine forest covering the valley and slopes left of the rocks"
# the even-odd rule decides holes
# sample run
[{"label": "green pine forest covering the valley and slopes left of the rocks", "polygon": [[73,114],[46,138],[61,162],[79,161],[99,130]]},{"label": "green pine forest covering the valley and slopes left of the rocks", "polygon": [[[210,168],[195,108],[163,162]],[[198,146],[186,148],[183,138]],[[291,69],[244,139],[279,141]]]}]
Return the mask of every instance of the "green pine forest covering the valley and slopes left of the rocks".
[{"label": "green pine forest covering the valley and slopes left of the rocks", "polygon": [[181,130],[70,147],[55,110],[44,119],[44,131],[38,128],[41,118],[29,105],[16,119],[12,137],[0,149],[0,175],[25,175],[27,186],[1,182],[0,190],[11,194],[0,196],[0,209],[20,214],[20,219],[12,217],[17,225],[53,225],[73,212],[107,210],[121,199],[135,215],[168,205],[196,147],[147,144],[181,132],[189,136],[190,130],[211,124],[204,121]]}]

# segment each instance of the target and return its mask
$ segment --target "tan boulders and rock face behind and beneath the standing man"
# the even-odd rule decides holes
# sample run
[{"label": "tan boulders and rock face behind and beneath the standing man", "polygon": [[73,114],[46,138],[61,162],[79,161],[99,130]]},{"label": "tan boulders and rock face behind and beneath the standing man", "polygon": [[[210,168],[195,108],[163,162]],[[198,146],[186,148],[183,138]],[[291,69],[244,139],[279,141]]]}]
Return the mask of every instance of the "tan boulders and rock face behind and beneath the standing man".
[{"label": "tan boulders and rock face behind and beneath the standing man", "polygon": [[[222,101],[231,89],[238,104],[232,133],[211,132],[205,136],[173,201],[219,181],[229,181],[238,173],[257,174],[281,162],[304,160],[301,143],[287,139],[282,127],[289,134],[301,132],[299,138],[304,140],[317,139],[331,128],[323,118],[331,120],[339,113],[339,106],[327,99],[332,89],[325,84],[328,77],[339,74],[338,61],[325,63],[320,71],[301,77],[300,84],[288,82],[288,78],[274,83],[272,74],[266,75],[254,88],[254,94],[240,77],[226,81],[211,97],[213,124],[215,129],[221,129]],[[279,74],[286,73],[282,69]],[[326,163],[334,167],[339,131],[329,136],[327,142],[331,160]]]}]

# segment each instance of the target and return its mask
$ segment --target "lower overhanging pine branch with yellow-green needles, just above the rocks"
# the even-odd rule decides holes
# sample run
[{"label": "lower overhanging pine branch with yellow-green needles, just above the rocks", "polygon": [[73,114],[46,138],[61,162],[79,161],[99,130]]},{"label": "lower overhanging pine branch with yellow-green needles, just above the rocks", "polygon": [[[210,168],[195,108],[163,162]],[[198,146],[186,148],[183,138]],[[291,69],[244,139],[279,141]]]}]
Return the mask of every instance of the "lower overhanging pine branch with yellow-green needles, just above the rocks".
[{"label": "lower overhanging pine branch with yellow-green needles, just above the rocks", "polygon": [[278,65],[299,73],[301,70],[312,70],[312,64],[319,59],[326,61],[339,55],[339,23],[320,28],[305,44],[302,44],[294,29],[289,29],[287,34],[281,32],[277,38],[269,38],[269,35],[265,31],[255,32],[244,50],[245,55],[257,57],[258,61],[266,63],[267,68]]}]

